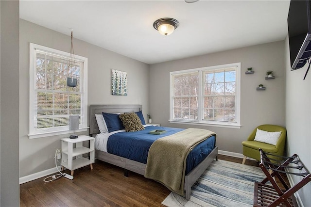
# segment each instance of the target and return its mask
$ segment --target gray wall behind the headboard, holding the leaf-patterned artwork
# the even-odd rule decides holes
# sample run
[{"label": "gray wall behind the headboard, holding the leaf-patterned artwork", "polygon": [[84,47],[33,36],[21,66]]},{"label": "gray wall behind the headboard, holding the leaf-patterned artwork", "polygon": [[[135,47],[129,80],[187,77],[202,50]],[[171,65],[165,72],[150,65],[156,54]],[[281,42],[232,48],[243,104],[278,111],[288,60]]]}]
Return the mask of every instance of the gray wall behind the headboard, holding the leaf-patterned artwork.
[{"label": "gray wall behind the headboard, holding the leaf-patterned artwork", "polygon": [[[19,173],[20,177],[55,167],[55,149],[60,138],[67,135],[29,139],[29,43],[70,52],[68,35],[49,30],[20,19],[20,115],[19,115]],[[74,36],[74,31],[73,31]],[[104,35],[103,35],[104,38]],[[118,43],[116,43],[118,44]],[[76,55],[88,58],[88,105],[142,104],[147,119],[149,65],[99,48],[78,39],[73,40]],[[111,69],[128,74],[128,96],[111,95]],[[84,134],[88,134],[85,132]]]}]

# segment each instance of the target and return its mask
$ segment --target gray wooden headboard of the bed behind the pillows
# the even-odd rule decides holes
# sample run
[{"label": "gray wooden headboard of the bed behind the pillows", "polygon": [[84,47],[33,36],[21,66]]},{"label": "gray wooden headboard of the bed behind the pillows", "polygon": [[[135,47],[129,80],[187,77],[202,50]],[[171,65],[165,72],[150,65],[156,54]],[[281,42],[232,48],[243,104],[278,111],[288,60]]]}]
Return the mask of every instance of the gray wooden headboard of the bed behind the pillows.
[{"label": "gray wooden headboard of the bed behind the pillows", "polygon": [[[90,105],[89,106],[89,133],[93,134],[100,133],[95,114],[106,113],[125,113],[125,112],[137,112],[142,111],[142,105],[138,104],[126,104],[126,105]],[[95,135],[94,135],[95,136]]]}]

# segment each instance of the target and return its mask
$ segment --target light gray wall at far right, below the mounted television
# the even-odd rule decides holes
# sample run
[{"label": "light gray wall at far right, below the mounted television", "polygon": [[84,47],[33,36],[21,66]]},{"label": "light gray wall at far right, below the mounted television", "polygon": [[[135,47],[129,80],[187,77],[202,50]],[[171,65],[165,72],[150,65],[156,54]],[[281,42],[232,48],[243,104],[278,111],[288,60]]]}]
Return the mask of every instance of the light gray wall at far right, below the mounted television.
[{"label": "light gray wall at far right, below the mounted television", "polygon": [[[297,154],[311,171],[311,71],[303,80],[308,68],[291,71],[288,37],[285,39],[286,70],[286,127],[288,155]],[[301,177],[292,176],[294,183]],[[305,207],[311,204],[311,183],[299,191]]]}]

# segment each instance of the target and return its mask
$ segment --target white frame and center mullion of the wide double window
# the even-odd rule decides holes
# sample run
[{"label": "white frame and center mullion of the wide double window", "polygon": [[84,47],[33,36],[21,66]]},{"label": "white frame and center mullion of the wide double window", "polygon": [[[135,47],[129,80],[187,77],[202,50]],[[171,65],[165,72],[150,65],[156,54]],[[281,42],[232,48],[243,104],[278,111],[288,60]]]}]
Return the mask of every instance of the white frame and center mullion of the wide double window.
[{"label": "white frame and center mullion of the wide double window", "polygon": [[[229,67],[236,67],[236,122],[226,122],[226,121],[209,121],[203,119],[203,108],[204,108],[204,96],[203,96],[203,87],[204,87],[204,71],[208,70],[219,70]],[[184,120],[184,119],[173,119],[173,75],[182,75],[188,74],[194,71],[199,71],[199,89],[198,89],[198,120]],[[170,72],[170,123],[175,124],[188,124],[188,125],[201,125],[201,126],[211,126],[211,127],[229,127],[229,128],[241,128],[241,63],[233,64],[223,64],[215,65],[187,70],[179,70]]]}]

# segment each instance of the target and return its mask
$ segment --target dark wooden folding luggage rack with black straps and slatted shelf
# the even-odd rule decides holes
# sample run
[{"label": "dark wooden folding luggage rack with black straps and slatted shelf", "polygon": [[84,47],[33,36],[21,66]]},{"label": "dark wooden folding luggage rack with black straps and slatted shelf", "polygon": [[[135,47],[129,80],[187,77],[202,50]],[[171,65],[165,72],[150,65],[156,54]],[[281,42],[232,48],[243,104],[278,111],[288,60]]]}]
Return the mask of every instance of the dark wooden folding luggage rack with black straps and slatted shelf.
[{"label": "dark wooden folding luggage rack with black straps and slatted shelf", "polygon": [[[260,183],[255,182],[254,207],[297,207],[294,193],[311,181],[309,170],[296,154],[290,157],[283,157],[264,152],[262,149],[259,149],[259,151],[259,167],[266,175],[266,178]],[[298,175],[303,178],[293,187],[290,187],[286,184],[281,174]],[[282,186],[277,185],[274,179],[275,176],[279,179]],[[268,181],[271,184],[267,184]]]}]

